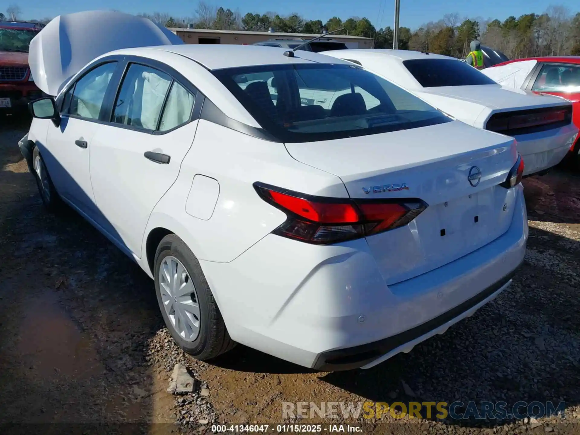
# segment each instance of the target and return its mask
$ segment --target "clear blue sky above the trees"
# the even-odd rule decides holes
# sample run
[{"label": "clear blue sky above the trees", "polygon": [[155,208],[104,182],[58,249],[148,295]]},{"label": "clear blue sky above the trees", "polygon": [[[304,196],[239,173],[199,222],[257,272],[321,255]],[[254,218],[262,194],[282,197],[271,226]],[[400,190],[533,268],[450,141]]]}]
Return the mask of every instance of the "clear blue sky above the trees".
[{"label": "clear blue sky above the trees", "polygon": [[[167,12],[175,16],[194,16],[197,0],[21,0],[14,3],[20,6],[24,19],[41,19],[63,13],[93,9],[117,9],[128,13]],[[394,0],[367,2],[356,0],[292,0],[288,2],[212,0],[209,3],[232,10],[238,9],[242,14],[273,11],[284,15],[298,12],[305,19],[321,19],[323,22],[333,15],[342,19],[358,16],[367,17],[376,27],[393,26]],[[8,6],[9,2],[4,4]],[[518,17],[524,13],[542,13],[549,4],[550,2],[545,0],[487,0],[478,2],[473,0],[401,0],[400,19],[401,26],[411,28],[419,27],[428,21],[436,21],[445,13],[455,12],[459,13],[461,18],[483,17],[487,19],[492,17],[503,20],[510,15]],[[580,11],[580,3],[577,0],[560,0],[552,4],[567,6],[573,13]]]}]

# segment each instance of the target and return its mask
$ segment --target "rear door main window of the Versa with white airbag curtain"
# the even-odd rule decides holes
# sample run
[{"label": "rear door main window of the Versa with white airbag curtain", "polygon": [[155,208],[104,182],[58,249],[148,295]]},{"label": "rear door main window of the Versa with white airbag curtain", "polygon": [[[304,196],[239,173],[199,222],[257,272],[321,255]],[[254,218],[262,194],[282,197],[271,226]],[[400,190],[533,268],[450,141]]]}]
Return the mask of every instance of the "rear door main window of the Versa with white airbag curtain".
[{"label": "rear door main window of the Versa with white airbag curtain", "polygon": [[115,124],[156,130],[172,78],[154,68],[131,64],[113,110]]}]

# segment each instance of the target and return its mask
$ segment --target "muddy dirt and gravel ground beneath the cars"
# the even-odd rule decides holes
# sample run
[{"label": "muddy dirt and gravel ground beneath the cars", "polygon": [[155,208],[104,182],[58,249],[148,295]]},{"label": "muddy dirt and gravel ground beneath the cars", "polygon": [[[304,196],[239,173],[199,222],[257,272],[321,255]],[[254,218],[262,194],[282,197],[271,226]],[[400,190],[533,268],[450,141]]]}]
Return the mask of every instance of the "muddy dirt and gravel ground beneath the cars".
[{"label": "muddy dirt and gravel ground beneath the cars", "polygon": [[[173,345],[139,267],[74,213],[44,211],[17,147],[29,122],[0,118],[0,433],[208,433],[194,408],[276,425],[283,402],[367,400],[564,401],[565,419],[350,422],[364,433],[580,433],[579,174],[524,181],[530,240],[512,288],[410,353],[321,373],[237,346],[205,364]],[[209,397],[166,392],[178,361]]]}]

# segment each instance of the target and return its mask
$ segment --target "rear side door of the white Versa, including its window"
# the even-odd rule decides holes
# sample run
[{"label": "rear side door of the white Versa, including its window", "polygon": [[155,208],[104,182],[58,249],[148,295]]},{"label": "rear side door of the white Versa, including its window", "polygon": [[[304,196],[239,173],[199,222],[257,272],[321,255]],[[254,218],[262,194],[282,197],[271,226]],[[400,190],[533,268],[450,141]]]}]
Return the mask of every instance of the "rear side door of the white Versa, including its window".
[{"label": "rear side door of the white Versa, including its window", "polygon": [[170,74],[129,63],[111,122],[99,128],[90,147],[90,179],[102,219],[97,223],[137,257],[147,220],[191,147],[194,113],[201,107],[197,91]]}]

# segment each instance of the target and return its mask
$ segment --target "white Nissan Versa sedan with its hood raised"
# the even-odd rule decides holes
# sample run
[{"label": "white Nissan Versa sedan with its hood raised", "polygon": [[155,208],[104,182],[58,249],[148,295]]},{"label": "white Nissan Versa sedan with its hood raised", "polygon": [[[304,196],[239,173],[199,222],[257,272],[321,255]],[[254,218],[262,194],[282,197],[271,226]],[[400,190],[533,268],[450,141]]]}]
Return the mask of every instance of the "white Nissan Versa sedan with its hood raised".
[{"label": "white Nissan Versa sedan with its hood raised", "polygon": [[[197,358],[238,342],[372,367],[473,314],[523,261],[514,140],[359,66],[178,44],[115,12],[57,17],[37,38],[31,68],[53,97],[31,104],[20,148],[42,200],[153,278]],[[319,91],[340,96],[322,107]]]}]

